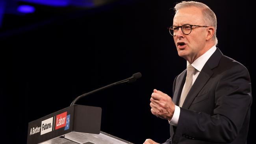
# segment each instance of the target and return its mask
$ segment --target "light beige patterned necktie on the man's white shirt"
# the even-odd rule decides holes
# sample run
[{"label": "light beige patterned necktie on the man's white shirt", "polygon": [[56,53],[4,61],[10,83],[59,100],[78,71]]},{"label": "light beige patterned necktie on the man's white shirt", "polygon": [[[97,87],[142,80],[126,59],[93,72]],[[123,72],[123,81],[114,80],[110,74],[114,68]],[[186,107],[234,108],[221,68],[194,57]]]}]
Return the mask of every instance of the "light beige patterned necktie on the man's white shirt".
[{"label": "light beige patterned necktie on the man's white shirt", "polygon": [[189,92],[190,88],[192,87],[193,82],[193,74],[195,72],[195,68],[192,65],[187,66],[187,76],[185,81],[185,87],[184,92],[182,93],[182,96],[180,96],[179,106],[182,107],[186,97],[187,93]]}]

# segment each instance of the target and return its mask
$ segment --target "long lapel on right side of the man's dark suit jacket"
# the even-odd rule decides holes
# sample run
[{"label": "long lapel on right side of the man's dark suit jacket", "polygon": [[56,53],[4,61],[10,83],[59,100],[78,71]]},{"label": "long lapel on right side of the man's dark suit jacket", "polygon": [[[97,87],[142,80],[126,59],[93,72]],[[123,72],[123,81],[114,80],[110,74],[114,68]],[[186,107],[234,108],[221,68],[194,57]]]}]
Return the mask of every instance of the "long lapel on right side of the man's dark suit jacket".
[{"label": "long lapel on right side of the man's dark suit jacket", "polygon": [[200,74],[198,75],[197,79],[195,80],[194,84],[192,85],[189,93],[187,94],[187,97],[182,105],[183,108],[189,108],[197,94],[200,92],[200,90],[204,87],[204,85],[212,76],[212,69],[218,66],[219,60],[221,59],[222,55],[223,54],[221,53],[221,51],[217,48],[213,55],[211,55],[211,57],[208,59],[208,61],[202,68]]}]

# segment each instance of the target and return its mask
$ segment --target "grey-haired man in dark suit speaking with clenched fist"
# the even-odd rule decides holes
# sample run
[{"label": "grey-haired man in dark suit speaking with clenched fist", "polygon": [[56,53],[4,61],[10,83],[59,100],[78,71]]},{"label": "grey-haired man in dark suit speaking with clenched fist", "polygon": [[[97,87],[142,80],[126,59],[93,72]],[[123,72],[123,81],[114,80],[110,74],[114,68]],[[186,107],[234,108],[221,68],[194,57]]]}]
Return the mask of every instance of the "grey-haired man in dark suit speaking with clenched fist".
[{"label": "grey-haired man in dark suit speaking with clenched fist", "polygon": [[248,70],[216,48],[217,19],[208,6],[191,1],[174,9],[170,33],[187,70],[174,80],[173,99],[156,89],[150,98],[152,114],[169,120],[171,137],[164,144],[246,144]]}]

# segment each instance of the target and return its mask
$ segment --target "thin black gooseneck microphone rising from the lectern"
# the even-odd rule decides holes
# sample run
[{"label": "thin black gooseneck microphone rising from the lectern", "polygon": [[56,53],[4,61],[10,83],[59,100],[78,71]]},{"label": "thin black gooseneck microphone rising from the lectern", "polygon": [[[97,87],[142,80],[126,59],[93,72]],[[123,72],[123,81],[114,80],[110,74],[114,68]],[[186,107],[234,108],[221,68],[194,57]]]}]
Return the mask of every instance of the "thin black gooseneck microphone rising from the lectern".
[{"label": "thin black gooseneck microphone rising from the lectern", "polygon": [[76,103],[76,101],[78,101],[80,98],[82,98],[82,97],[84,97],[84,96],[88,96],[89,94],[93,94],[94,92],[97,92],[97,91],[100,91],[100,90],[103,90],[103,89],[112,87],[112,86],[114,86],[114,85],[119,85],[119,84],[121,84],[121,83],[126,83],[126,82],[132,83],[132,82],[136,81],[136,79],[138,79],[138,78],[141,78],[141,73],[140,73],[140,72],[137,72],[137,73],[133,74],[130,78],[123,79],[123,80],[121,80],[121,81],[117,81],[117,82],[115,82],[115,83],[111,83],[111,84],[109,84],[109,85],[106,85],[106,86],[101,87],[101,88],[99,88],[99,89],[93,90],[93,91],[91,91],[91,92],[87,92],[87,93],[85,93],[85,94],[82,94],[81,96],[78,96],[76,99],[74,99],[73,102],[70,104],[70,106],[74,105],[74,104]]}]

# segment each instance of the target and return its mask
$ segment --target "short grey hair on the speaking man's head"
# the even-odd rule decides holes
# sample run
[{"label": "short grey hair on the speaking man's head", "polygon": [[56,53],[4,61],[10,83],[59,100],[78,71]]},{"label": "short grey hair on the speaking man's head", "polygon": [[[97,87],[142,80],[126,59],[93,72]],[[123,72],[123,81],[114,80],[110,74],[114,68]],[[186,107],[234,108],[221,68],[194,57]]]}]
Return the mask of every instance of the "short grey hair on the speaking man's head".
[{"label": "short grey hair on the speaking man's head", "polygon": [[213,26],[215,28],[214,35],[213,35],[213,41],[215,42],[215,45],[218,43],[218,39],[216,36],[217,31],[217,18],[215,13],[208,7],[206,4],[203,4],[201,2],[194,2],[194,1],[183,1],[174,7],[175,13],[184,7],[198,7],[202,9],[202,14],[204,15],[204,21],[206,24],[210,24],[210,26]]}]

